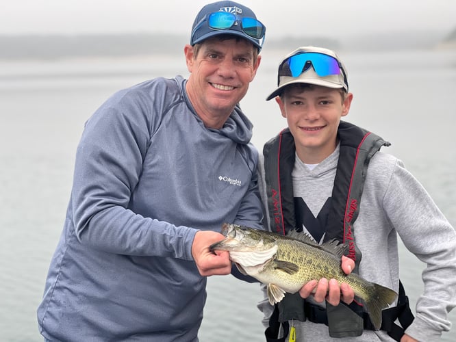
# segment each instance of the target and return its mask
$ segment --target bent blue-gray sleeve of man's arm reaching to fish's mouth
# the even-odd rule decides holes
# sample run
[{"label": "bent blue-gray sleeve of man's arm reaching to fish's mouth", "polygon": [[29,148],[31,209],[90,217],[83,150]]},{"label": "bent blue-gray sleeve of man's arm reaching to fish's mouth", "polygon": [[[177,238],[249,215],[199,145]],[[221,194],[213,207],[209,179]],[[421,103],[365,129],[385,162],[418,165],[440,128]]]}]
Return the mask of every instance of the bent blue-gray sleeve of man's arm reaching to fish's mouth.
[{"label": "bent blue-gray sleeve of man's arm reaching to fish's mouth", "polygon": [[86,122],[75,159],[73,226],[79,241],[94,249],[192,260],[195,229],[127,209],[150,132],[160,124],[144,98],[120,92]]}]

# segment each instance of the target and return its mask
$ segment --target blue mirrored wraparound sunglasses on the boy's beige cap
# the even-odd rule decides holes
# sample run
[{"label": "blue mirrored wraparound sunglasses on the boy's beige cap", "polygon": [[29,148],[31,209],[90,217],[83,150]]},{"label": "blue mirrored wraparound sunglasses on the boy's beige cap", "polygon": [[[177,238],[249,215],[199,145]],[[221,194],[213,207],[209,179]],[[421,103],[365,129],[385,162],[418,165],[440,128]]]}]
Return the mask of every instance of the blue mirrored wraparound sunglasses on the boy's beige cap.
[{"label": "blue mirrored wraparound sunglasses on the boy's beige cap", "polygon": [[[285,64],[288,64],[288,68],[283,67]],[[340,75],[342,71],[342,75],[344,76],[344,83],[348,88],[349,83],[347,82],[342,64],[340,64],[340,62],[335,57],[319,52],[301,52],[288,57],[281,64],[279,77],[298,77],[306,70],[308,70],[311,66],[314,68],[315,73],[320,77]]]}]

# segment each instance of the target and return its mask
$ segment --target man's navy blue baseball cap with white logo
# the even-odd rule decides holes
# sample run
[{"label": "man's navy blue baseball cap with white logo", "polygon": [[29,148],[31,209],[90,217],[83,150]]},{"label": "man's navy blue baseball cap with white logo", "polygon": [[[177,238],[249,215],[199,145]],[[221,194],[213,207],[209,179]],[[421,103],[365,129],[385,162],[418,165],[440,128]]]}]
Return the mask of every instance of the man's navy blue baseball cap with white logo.
[{"label": "man's navy blue baseball cap with white logo", "polygon": [[232,34],[233,36],[240,36],[249,40],[249,42],[252,42],[253,45],[258,48],[258,51],[262,49],[264,36],[260,39],[253,38],[248,34],[245,34],[239,25],[233,25],[228,29],[212,29],[207,25],[207,23],[203,23],[204,20],[207,20],[207,17],[210,16],[210,14],[220,11],[229,12],[239,17],[245,16],[249,18],[257,18],[255,13],[253,13],[250,8],[234,1],[217,1],[209,3],[201,8],[197,17],[194,19],[192,34],[190,36],[190,45],[193,46],[194,44],[202,42],[207,38],[218,36],[219,34]]}]

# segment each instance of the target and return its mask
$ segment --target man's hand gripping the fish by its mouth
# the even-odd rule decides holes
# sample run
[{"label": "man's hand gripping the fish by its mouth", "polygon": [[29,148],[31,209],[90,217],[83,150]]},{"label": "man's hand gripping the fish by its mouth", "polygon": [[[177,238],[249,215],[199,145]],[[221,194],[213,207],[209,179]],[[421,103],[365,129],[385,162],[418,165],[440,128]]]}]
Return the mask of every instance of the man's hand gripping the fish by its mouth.
[{"label": "man's hand gripping the fish by its mouth", "polygon": [[192,256],[197,263],[201,276],[225,275],[231,273],[229,252],[225,250],[211,252],[209,246],[225,239],[220,233],[213,231],[198,231],[192,244]]}]

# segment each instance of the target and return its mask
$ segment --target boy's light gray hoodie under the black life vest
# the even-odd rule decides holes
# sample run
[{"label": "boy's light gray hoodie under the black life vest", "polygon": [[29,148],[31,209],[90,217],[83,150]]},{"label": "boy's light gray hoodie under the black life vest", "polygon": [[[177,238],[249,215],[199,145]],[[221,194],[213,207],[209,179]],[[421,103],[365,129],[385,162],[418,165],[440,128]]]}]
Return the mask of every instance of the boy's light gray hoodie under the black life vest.
[{"label": "boy's light gray hoodie under the black life vest", "polygon": [[[296,160],[292,174],[294,196],[302,197],[315,216],[331,196],[338,158],[339,148],[313,170]],[[264,198],[262,177],[260,192]],[[369,163],[354,235],[362,252],[359,274],[396,293],[397,236],[426,264],[421,277],[424,292],[418,298],[416,317],[406,333],[419,341],[438,341],[442,331],[451,328],[447,313],[456,306],[456,233],[422,185],[392,155],[376,153]],[[419,274],[417,271],[417,280]],[[265,314],[266,324],[272,306],[265,298],[258,307]],[[294,326],[296,341],[332,340],[325,324],[294,321]],[[386,332],[372,330],[364,330],[360,337],[334,340],[393,341]]]}]

